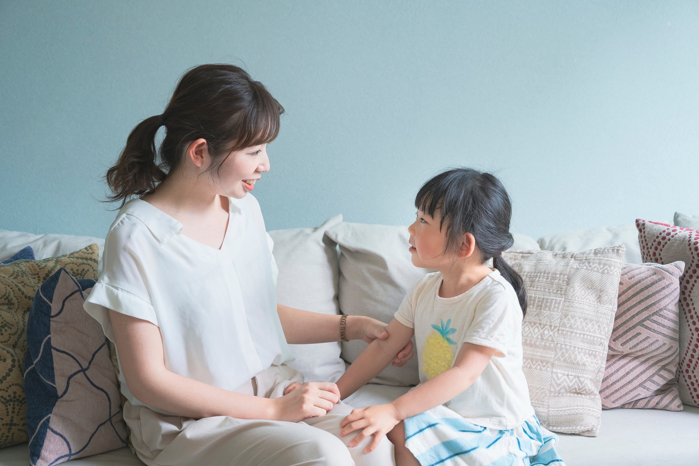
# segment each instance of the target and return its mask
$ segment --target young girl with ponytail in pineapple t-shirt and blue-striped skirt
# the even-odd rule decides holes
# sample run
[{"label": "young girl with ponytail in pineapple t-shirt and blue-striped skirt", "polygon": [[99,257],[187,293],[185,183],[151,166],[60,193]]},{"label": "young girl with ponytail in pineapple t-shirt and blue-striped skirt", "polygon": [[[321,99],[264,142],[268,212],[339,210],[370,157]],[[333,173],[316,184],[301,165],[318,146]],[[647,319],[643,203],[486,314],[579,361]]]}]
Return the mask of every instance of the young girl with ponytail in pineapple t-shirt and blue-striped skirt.
[{"label": "young girl with ponytail in pineapple t-shirt and blue-striped skirt", "polygon": [[[469,168],[429,180],[408,227],[412,263],[438,270],[405,296],[387,328],[338,380],[346,398],[375,377],[415,333],[420,384],[387,405],[354,409],[350,446],[387,435],[396,464],[563,465],[539,424],[522,372],[521,277],[500,256],[512,247],[510,198],[496,177]],[[493,259],[493,268],[486,265]]]}]

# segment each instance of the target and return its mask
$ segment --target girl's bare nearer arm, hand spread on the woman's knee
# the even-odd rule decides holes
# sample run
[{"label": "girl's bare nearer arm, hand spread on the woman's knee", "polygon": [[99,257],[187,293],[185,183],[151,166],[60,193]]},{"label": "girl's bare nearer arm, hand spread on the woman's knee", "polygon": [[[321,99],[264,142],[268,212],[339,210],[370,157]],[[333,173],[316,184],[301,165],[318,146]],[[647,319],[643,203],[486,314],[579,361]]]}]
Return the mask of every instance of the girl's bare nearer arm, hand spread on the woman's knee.
[{"label": "girl's bare nearer arm, hand spread on the woman's knee", "polygon": [[[370,453],[378,446],[382,437],[403,419],[442,405],[465,391],[475,379],[480,377],[494,354],[496,350],[493,348],[464,343],[450,369],[418,385],[387,405],[354,409],[352,414],[340,423],[340,427],[343,428],[340,436],[362,429],[359,435],[349,442],[349,446],[355,446],[369,435],[373,435],[373,442],[364,450],[365,453]],[[341,389],[340,393],[342,393]]]}]

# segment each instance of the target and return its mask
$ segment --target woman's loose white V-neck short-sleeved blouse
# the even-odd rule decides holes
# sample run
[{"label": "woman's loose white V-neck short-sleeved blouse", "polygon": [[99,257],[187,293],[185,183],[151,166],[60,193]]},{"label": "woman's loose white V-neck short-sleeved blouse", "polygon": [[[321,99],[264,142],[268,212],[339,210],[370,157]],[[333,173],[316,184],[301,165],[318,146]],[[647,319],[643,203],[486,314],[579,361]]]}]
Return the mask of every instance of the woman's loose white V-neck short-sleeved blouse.
[{"label": "woman's loose white V-neck short-sleeved blouse", "polygon": [[[294,355],[277,313],[273,242],[257,199],[230,198],[229,213],[215,249],[182,235],[182,224],[157,207],[127,202],[109,228],[103,270],[85,310],[111,341],[110,309],[154,323],[168,370],[234,391]],[[146,406],[120,372],[127,400]]]}]

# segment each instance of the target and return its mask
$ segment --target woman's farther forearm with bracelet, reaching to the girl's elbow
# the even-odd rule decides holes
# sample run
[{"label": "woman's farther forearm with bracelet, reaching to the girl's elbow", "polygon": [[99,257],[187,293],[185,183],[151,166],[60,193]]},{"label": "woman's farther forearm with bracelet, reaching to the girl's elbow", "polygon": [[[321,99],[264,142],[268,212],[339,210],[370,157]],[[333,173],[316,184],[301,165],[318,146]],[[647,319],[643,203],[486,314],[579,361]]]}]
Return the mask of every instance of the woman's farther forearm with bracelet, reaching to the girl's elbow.
[{"label": "woman's farther forearm with bracelet, reaching to the girl's elbow", "polygon": [[[340,341],[342,316],[303,311],[283,304],[277,305],[277,312],[284,330],[284,337],[290,344]],[[367,343],[375,339],[384,340],[389,335],[386,324],[366,316],[347,316],[345,333],[347,340],[364,340]],[[393,365],[400,367],[408,363],[412,358],[412,342],[408,340],[408,344],[396,354],[398,356],[394,359]]]}]

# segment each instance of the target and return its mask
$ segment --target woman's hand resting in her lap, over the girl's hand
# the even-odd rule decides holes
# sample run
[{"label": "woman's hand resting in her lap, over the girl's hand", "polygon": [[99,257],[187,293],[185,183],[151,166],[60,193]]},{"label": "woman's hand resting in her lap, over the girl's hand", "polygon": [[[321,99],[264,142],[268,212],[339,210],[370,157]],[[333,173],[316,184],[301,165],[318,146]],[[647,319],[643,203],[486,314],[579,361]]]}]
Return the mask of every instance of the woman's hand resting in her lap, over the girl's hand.
[{"label": "woman's hand resting in her lap, over the girl's hand", "polygon": [[298,422],[305,418],[325,416],[340,400],[338,386],[332,382],[309,382],[292,388],[287,395],[273,399],[275,419]]}]

